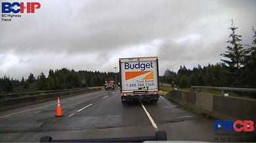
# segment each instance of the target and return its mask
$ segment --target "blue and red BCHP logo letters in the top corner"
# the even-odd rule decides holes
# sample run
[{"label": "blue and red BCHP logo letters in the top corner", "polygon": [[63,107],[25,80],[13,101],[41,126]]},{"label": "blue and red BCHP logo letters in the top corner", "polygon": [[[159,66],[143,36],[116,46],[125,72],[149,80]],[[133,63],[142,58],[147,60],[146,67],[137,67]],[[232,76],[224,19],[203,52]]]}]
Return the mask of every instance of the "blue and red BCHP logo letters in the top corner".
[{"label": "blue and red BCHP logo letters in the top corner", "polygon": [[[13,7],[20,7],[17,10],[15,10]],[[24,3],[8,3],[8,2],[3,2],[2,3],[2,13],[11,13],[13,12],[14,14],[16,13],[24,13],[24,9],[26,9],[27,13],[35,13],[35,9],[39,9],[41,7],[40,3],[26,3],[26,6]]]}]

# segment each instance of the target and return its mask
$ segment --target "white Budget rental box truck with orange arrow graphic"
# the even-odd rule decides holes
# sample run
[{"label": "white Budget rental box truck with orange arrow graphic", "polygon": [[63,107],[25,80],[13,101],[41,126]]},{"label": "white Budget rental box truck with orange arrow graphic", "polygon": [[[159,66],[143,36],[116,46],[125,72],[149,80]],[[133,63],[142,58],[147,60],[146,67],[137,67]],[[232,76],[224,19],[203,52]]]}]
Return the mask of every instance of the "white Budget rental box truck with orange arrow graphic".
[{"label": "white Budget rental box truck with orange arrow graphic", "polygon": [[119,58],[121,102],[158,102],[158,57]]}]

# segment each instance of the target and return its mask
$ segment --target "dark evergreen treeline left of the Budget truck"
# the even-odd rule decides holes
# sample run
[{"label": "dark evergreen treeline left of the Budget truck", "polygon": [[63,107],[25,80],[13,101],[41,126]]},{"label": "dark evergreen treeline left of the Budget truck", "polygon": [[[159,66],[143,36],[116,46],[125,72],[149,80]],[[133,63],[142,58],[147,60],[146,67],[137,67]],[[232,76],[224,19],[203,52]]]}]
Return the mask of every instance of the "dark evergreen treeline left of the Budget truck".
[{"label": "dark evergreen treeline left of the Budget truck", "polygon": [[[13,80],[9,76],[0,78],[0,93],[13,91],[49,91],[80,87],[104,86],[107,80],[115,80],[119,73],[99,71],[74,71],[74,69],[50,69],[46,77],[43,72],[37,77],[32,73],[27,79]],[[117,78],[117,82],[118,82]]]}]

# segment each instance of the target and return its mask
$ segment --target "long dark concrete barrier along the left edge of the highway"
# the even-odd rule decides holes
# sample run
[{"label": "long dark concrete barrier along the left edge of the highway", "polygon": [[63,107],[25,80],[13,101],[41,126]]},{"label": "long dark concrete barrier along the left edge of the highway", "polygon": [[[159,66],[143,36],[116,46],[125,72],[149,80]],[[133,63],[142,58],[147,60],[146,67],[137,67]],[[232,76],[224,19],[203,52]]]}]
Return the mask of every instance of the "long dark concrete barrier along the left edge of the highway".
[{"label": "long dark concrete barrier along the left edge of the highway", "polygon": [[10,108],[16,108],[20,106],[26,106],[28,104],[35,104],[35,103],[43,103],[45,101],[52,101],[56,100],[57,97],[64,98],[64,97],[71,97],[74,95],[79,95],[83,93],[90,93],[93,91],[101,90],[101,88],[93,88],[93,89],[84,89],[78,91],[67,91],[62,93],[54,93],[54,94],[47,94],[47,95],[37,95],[33,97],[23,97],[18,99],[8,99],[0,101],[0,110],[7,110]]}]

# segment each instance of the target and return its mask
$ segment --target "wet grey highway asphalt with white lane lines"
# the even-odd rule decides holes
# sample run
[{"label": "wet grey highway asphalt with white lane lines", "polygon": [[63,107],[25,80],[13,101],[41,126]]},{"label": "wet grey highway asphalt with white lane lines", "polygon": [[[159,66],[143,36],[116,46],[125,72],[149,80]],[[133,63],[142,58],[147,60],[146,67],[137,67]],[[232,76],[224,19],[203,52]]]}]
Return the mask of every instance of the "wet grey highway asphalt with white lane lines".
[{"label": "wet grey highway asphalt with white lane lines", "polygon": [[60,99],[62,117],[55,117],[56,106],[57,99],[1,111],[0,142],[39,142],[45,135],[54,140],[150,136],[159,130],[169,141],[256,142],[255,133],[215,133],[215,119],[163,97],[154,104],[122,104],[119,91],[96,91]]}]

